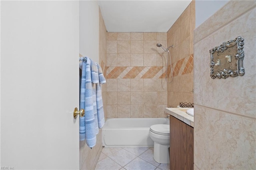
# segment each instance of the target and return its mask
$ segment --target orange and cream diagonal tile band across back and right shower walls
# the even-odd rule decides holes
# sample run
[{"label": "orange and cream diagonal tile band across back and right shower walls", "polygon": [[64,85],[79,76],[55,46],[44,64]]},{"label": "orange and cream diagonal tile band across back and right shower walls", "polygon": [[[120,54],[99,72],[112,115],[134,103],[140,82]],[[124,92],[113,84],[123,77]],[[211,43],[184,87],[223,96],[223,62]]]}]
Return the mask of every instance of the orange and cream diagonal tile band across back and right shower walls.
[{"label": "orange and cream diagonal tile band across back and right shower walls", "polygon": [[[172,64],[173,77],[191,73],[194,68],[193,55],[180,59]],[[106,67],[107,79],[163,79],[165,78],[166,67],[163,66],[140,66],[140,67]],[[170,65],[167,74],[170,75]]]}]

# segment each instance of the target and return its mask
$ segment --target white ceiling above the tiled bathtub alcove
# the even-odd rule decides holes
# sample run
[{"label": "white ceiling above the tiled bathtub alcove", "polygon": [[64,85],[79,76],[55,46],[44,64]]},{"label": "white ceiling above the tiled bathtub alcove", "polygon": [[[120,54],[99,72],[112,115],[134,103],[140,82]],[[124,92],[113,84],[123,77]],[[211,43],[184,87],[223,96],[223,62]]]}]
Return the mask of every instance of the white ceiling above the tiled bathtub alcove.
[{"label": "white ceiling above the tiled bathtub alcove", "polygon": [[108,32],[167,32],[192,0],[99,0]]}]

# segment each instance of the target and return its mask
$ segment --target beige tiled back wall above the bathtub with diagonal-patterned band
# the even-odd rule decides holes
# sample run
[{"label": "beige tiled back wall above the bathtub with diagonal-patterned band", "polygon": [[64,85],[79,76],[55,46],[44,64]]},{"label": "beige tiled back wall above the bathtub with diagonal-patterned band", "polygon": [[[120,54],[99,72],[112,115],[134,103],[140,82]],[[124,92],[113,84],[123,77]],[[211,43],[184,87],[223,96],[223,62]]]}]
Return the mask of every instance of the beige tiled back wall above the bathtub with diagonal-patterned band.
[{"label": "beige tiled back wall above the bathtub with diagonal-patterned band", "polygon": [[107,118],[164,117],[167,34],[107,33]]}]

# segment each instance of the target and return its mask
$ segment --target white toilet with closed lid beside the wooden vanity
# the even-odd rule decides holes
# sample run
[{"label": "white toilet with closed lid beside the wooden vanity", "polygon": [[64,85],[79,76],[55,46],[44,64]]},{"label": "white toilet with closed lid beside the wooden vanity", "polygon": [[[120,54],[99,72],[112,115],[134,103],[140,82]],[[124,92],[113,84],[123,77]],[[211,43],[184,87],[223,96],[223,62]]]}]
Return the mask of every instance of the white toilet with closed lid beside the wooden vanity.
[{"label": "white toilet with closed lid beside the wooden vanity", "polygon": [[149,136],[154,141],[154,160],[160,164],[169,164],[170,125],[150,126]]}]

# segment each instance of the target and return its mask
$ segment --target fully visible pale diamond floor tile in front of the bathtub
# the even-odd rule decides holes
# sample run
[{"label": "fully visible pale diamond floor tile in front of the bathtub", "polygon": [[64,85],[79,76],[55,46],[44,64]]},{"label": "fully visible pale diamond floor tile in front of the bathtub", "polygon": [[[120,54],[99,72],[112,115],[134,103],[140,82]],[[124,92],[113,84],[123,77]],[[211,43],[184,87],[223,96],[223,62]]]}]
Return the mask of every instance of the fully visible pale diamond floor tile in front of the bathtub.
[{"label": "fully visible pale diamond floor tile in front of the bathtub", "polygon": [[118,152],[112,154],[109,156],[112,160],[114,160],[116,163],[118,163],[121,166],[125,166],[132,160],[134,160],[137,156],[128,152],[127,150],[119,150]]}]

